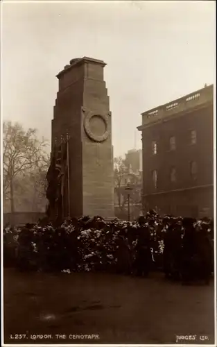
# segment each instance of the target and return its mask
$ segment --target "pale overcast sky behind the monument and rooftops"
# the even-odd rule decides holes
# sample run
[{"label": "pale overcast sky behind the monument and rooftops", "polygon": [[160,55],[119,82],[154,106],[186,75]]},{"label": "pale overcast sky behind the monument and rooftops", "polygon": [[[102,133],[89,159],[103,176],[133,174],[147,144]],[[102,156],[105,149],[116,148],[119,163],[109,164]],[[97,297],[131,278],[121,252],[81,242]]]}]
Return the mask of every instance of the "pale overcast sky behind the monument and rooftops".
[{"label": "pale overcast sky behind the monument and rooftops", "polygon": [[[3,119],[51,139],[72,58],[104,60],[114,155],[141,148],[141,112],[214,83],[215,1],[3,1]],[[135,136],[136,134],[136,136]]]}]

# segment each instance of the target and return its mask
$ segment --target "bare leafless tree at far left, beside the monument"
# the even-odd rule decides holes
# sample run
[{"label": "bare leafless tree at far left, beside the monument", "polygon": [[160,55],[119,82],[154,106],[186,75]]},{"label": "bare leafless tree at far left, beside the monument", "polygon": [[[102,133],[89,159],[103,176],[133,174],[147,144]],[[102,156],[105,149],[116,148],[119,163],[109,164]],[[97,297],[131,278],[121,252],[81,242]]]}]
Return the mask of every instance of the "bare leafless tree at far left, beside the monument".
[{"label": "bare leafless tree at far left, beside the monument", "polygon": [[44,166],[47,146],[44,138],[37,138],[36,129],[24,130],[19,123],[3,122],[3,194],[10,201],[11,212],[15,212],[16,178]]}]

